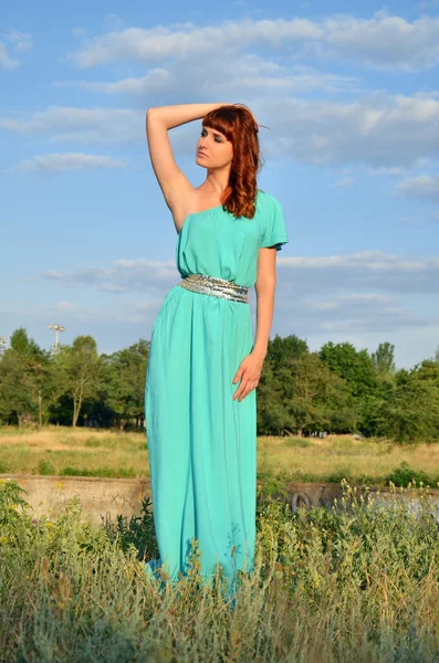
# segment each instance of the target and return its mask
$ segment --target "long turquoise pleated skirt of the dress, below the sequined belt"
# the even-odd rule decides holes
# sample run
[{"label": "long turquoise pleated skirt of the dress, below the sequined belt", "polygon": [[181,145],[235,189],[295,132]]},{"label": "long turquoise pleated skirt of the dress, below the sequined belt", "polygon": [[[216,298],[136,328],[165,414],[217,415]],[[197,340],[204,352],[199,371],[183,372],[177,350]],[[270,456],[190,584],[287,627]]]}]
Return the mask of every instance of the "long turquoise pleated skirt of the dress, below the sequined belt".
[{"label": "long turquoise pleated skirt of the dress, below the sequined belt", "polygon": [[[173,580],[187,572],[192,537],[206,578],[253,566],[255,390],[232,383],[252,349],[250,307],[175,286],[155,322],[146,427],[154,523]],[[247,567],[245,567],[247,565]]]}]

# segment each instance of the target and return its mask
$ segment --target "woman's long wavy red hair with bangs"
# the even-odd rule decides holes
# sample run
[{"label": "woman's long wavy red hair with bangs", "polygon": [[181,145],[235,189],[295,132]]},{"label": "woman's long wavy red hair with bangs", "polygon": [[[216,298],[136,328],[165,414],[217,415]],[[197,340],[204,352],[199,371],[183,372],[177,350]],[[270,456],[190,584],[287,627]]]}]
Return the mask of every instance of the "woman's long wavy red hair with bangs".
[{"label": "woman's long wavy red hair with bangs", "polygon": [[222,206],[234,217],[253,219],[255,213],[257,173],[261,168],[258,125],[242,104],[210,110],[202,126],[220,131],[233,147],[229,185],[221,196]]}]

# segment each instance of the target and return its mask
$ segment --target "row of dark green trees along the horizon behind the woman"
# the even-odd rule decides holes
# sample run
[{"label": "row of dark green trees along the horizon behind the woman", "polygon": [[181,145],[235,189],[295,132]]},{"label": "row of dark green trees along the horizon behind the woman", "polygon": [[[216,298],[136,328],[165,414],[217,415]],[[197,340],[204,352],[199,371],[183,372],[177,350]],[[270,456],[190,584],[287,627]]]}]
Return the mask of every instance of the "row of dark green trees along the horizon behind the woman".
[{"label": "row of dark green trees along the horizon behind the woman", "polygon": [[[295,335],[276,335],[257,390],[258,434],[438,442],[439,348],[410,370],[396,368],[394,350],[330,341],[312,352]],[[144,429],[148,354],[139,339],[100,355],[92,336],[44,350],[21,327],[0,359],[0,425]]]}]

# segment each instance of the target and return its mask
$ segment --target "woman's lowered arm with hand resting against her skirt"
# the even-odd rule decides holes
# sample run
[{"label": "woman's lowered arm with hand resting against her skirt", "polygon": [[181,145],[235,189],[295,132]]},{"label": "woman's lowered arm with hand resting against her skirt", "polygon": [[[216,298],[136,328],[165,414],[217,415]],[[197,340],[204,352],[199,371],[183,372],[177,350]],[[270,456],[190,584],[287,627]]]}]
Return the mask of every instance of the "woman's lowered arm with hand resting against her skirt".
[{"label": "woman's lowered arm with hand resting against her skirt", "polygon": [[259,250],[258,274],[254,283],[257,292],[257,334],[252,351],[243,358],[232,380],[234,385],[241,379],[241,383],[233,394],[233,400],[238,398],[239,402],[258,387],[266,356],[274,313],[276,253],[275,246]]}]

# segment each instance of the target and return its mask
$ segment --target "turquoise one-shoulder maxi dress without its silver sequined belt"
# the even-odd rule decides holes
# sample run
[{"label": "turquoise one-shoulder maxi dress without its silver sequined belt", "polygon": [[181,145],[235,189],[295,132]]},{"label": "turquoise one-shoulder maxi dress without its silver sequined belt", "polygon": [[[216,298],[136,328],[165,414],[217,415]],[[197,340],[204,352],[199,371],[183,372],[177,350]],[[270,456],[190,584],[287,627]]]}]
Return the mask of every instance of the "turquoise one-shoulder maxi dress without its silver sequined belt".
[{"label": "turquoise one-shoulder maxi dress without its silver sequined belt", "polygon": [[[286,236],[282,208],[257,193],[253,219],[221,206],[191,213],[177,238],[184,278],[205,274],[253,286],[258,250]],[[175,581],[186,575],[194,537],[201,573],[251,571],[255,543],[257,392],[241,402],[232,383],[253,348],[250,306],[175,285],[154,323],[145,413],[159,559]]]}]

